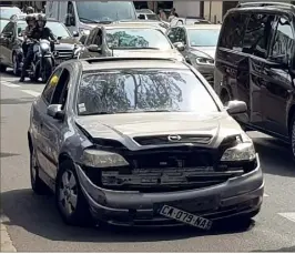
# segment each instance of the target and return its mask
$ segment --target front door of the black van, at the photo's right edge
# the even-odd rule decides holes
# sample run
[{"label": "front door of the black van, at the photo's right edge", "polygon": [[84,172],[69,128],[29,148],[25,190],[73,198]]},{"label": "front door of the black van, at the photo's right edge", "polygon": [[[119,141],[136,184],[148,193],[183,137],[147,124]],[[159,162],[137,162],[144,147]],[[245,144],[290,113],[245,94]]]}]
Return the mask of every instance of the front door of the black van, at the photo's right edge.
[{"label": "front door of the black van, at the photo's right edge", "polygon": [[294,91],[291,73],[294,40],[294,29],[288,18],[277,17],[272,48],[264,69],[262,101],[265,129],[284,136],[288,135],[287,109]]}]

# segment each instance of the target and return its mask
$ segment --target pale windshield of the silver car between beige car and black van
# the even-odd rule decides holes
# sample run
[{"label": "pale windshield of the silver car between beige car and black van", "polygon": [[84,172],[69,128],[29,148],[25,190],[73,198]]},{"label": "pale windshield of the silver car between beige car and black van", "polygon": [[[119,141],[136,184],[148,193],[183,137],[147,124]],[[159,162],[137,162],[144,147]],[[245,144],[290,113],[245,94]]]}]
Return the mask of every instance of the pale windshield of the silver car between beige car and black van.
[{"label": "pale windshield of the silver car between beige car and black van", "polygon": [[192,47],[216,47],[220,29],[189,29],[187,35]]}]

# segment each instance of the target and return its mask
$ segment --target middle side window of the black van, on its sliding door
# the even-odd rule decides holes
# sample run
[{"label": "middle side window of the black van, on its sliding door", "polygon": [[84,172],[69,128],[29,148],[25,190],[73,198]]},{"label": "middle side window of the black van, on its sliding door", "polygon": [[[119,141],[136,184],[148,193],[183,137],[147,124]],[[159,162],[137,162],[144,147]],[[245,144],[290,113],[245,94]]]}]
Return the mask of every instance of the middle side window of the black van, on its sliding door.
[{"label": "middle side window of the black van, on its sliding door", "polygon": [[274,21],[275,16],[252,14],[245,31],[243,52],[266,58]]}]

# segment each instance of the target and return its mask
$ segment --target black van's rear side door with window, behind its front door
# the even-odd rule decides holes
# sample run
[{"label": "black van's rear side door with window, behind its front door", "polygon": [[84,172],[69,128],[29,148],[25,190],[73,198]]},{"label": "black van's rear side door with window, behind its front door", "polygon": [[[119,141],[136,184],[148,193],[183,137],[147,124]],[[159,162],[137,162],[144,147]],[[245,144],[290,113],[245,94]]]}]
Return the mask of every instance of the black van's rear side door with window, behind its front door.
[{"label": "black van's rear side door with window, behind its front door", "polygon": [[[248,103],[250,123],[257,128],[264,126],[263,121],[263,88],[265,84],[265,64],[273,33],[275,16],[268,13],[252,13],[244,35],[243,52],[248,55],[247,63],[242,67],[237,77],[240,90],[245,89],[244,101]],[[243,64],[242,64],[243,65]]]}]

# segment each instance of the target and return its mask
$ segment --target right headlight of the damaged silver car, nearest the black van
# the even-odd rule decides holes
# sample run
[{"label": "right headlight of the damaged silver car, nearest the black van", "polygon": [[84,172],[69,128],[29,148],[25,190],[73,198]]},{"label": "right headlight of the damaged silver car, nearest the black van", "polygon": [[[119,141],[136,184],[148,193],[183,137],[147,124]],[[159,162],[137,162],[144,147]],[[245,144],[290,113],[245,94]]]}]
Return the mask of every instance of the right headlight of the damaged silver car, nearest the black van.
[{"label": "right headlight of the damaged silver car, nearest the black van", "polygon": [[[237,139],[238,140],[238,139]],[[256,151],[253,142],[246,134],[242,134],[238,144],[227,149],[223,155],[222,162],[253,161],[256,159]]]}]

